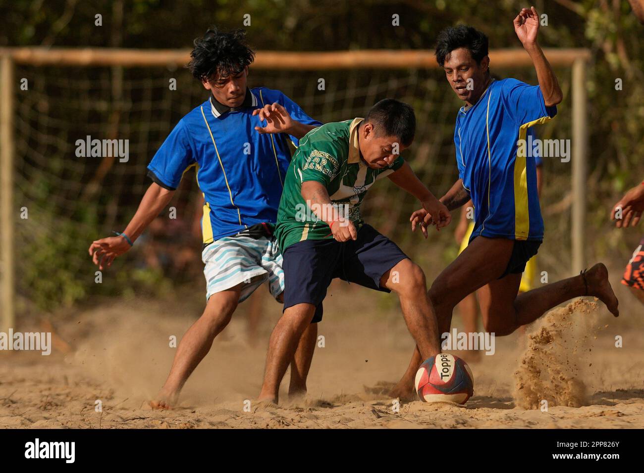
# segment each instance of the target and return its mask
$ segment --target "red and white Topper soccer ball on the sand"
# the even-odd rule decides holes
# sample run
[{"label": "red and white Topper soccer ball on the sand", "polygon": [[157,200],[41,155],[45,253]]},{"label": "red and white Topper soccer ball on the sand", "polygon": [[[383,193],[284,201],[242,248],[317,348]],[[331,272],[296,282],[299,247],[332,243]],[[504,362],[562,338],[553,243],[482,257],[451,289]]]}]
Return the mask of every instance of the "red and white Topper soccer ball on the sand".
[{"label": "red and white Topper soccer ball on the sand", "polygon": [[414,385],[424,402],[464,404],[474,394],[474,376],[468,364],[447,353],[425,360],[416,372]]}]

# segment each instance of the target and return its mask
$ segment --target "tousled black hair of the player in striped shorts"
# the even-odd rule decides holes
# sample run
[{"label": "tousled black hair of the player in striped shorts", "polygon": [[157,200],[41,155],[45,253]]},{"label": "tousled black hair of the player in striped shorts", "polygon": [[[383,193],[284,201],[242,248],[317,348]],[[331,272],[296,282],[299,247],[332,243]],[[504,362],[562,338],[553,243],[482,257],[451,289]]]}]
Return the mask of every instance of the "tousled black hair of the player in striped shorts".
[{"label": "tousled black hair of the player in striped shorts", "polygon": [[188,63],[194,78],[208,80],[216,73],[222,78],[240,73],[255,57],[245,37],[246,32],[241,29],[221,32],[211,26],[204,37],[194,40]]}]

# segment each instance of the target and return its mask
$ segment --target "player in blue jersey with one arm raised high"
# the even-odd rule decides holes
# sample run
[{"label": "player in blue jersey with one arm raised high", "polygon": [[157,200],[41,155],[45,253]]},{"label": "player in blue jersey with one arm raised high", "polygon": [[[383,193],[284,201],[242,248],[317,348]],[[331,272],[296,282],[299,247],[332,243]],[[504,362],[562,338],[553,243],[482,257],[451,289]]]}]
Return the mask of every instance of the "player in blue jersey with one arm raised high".
[{"label": "player in blue jersey with one arm raised high", "polygon": [[[583,295],[598,297],[613,315],[619,315],[618,300],[601,263],[576,277],[518,295],[526,262],[544,237],[535,158],[526,156],[530,153],[519,144],[529,127],[556,115],[562,91],[537,42],[535,8],[523,8],[514,27],[535,66],[538,86],[516,79],[494,80],[489,72],[488,38],[474,28],[446,28],[438,37],[437,61],[465,102],[454,130],[459,179],[440,201],[451,211],[471,199],[475,218],[469,245],[429,291],[439,333],[450,331],[453,308],[475,291],[484,327],[496,335],[509,335],[554,306]],[[426,236],[431,216],[417,210],[411,220],[412,230],[420,225]],[[413,379],[421,362],[416,348],[392,396],[413,396]]]}]

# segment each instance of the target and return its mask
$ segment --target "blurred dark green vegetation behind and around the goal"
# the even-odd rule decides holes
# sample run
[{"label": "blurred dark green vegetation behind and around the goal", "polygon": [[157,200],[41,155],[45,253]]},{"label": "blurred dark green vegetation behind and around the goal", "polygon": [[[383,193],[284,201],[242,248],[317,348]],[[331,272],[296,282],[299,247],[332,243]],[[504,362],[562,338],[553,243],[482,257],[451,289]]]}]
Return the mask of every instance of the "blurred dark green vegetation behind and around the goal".
[{"label": "blurred dark green vegetation behind and around the goal", "polygon": [[[612,203],[620,194],[641,181],[644,175],[640,151],[644,144],[644,26],[632,15],[626,0],[537,0],[534,5],[540,14],[547,14],[548,17],[548,25],[542,27],[540,32],[540,43],[544,48],[589,48],[592,53],[587,80],[591,150],[587,258],[590,261],[596,257],[609,256],[615,262],[614,267],[617,271],[621,271],[638,242],[639,234],[636,230],[615,230],[609,225],[608,215]],[[243,26],[244,15],[250,14],[251,26],[246,28],[249,43],[260,53],[261,50],[328,51],[372,48],[431,50],[435,46],[435,37],[439,30],[458,23],[471,24],[486,33],[491,48],[518,48],[520,43],[513,31],[512,20],[523,6],[529,4],[514,0],[0,0],[0,11],[3,12],[0,18],[0,46],[190,48],[193,39],[202,35],[212,24],[224,29],[240,28]],[[101,27],[95,26],[96,14],[102,15]],[[392,28],[393,14],[399,15],[401,26]],[[536,83],[533,71],[494,71],[503,72],[503,75],[512,74],[518,79]],[[74,68],[54,71],[25,66],[19,72],[36,83],[39,82],[40,75],[46,75],[48,80],[46,86],[35,86],[41,95],[33,95],[30,99],[21,98],[18,104],[26,118],[24,122],[17,124],[17,133],[24,134],[33,129],[38,131],[34,136],[24,138],[24,142],[18,146],[19,151],[40,149],[38,156],[41,156],[40,160],[30,158],[26,151],[24,156],[18,156],[21,160],[18,165],[19,172],[23,175],[19,180],[17,192],[29,192],[29,201],[37,209],[33,212],[33,219],[30,215],[32,221],[28,225],[24,221],[17,223],[23,225],[20,234],[24,236],[24,240],[17,242],[17,250],[20,252],[17,263],[19,291],[24,296],[24,301],[30,301],[29,304],[25,302],[21,310],[29,310],[32,304],[37,310],[53,310],[61,304],[69,306],[83,301],[96,293],[131,295],[144,291],[161,295],[171,290],[171,281],[201,281],[203,277],[198,274],[199,270],[195,272],[187,271],[183,266],[177,269],[168,268],[164,264],[147,264],[148,259],[140,254],[138,258],[144,263],[138,264],[135,263],[137,255],[128,254],[124,258],[126,263],[115,263],[115,266],[120,265],[116,277],[106,278],[104,285],[100,287],[97,287],[99,284],[91,284],[95,268],[86,253],[86,248],[93,239],[108,236],[111,230],[122,229],[127,225],[149,181],[146,180],[144,172],[136,178],[130,176],[129,180],[121,180],[117,175],[107,174],[100,182],[100,187],[105,192],[93,190],[88,182],[96,175],[96,169],[87,167],[81,169],[78,174],[73,174],[71,171],[65,171],[66,167],[62,164],[65,156],[73,153],[73,138],[82,137],[92,131],[99,134],[98,128],[91,129],[91,115],[75,118],[77,121],[72,122],[71,129],[67,130],[67,137],[63,139],[66,145],[43,144],[46,141],[43,137],[49,136],[51,132],[41,129],[38,120],[42,118],[34,118],[33,122],[30,122],[29,117],[34,108],[41,114],[52,116],[52,120],[57,116],[56,113],[69,116],[70,112],[65,109],[66,104],[78,97],[66,97],[61,93],[56,99],[51,88],[61,88],[61,84],[70,80],[74,83],[73,80],[79,80],[77,77],[81,75],[86,76],[86,79],[83,79],[85,82],[79,85],[86,88],[85,103],[98,104],[103,103],[103,100],[102,113],[109,115],[122,107],[123,102],[122,97],[117,97],[118,100],[115,101],[113,90],[109,87],[109,84],[113,83],[115,71],[88,73]],[[180,77],[184,77],[185,81],[190,80],[185,71],[180,73]],[[395,71],[386,73],[395,75]],[[148,71],[126,71],[124,80],[126,84],[134,84],[137,78],[145,82],[152,80],[150,74]],[[365,71],[362,75],[355,76],[355,80],[367,87],[374,81],[371,74]],[[440,86],[428,86],[427,90],[432,92],[421,100],[435,100],[441,105],[448,105],[440,109],[444,117],[441,116],[440,120],[432,117],[433,121],[428,122],[440,122],[440,126],[444,127],[440,129],[439,142],[434,147],[424,148],[427,155],[424,159],[414,155],[420,159],[417,162],[419,165],[414,165],[412,161],[412,167],[415,167],[430,189],[436,194],[442,194],[457,174],[453,163],[451,124],[460,104],[457,98],[451,97],[446,84],[440,81],[440,71],[421,71],[417,74],[419,77],[414,79],[415,84],[431,81],[431,84]],[[568,105],[565,102],[562,104],[560,117],[551,122],[550,129],[541,132],[544,133],[543,137],[569,137],[569,70],[558,71],[558,74],[567,93],[565,101]],[[338,74],[337,80],[348,80],[344,76]],[[167,73],[160,73],[159,77],[167,77]],[[380,77],[384,78],[384,75]],[[618,78],[623,81],[621,91],[615,89],[615,81]],[[332,101],[318,100],[316,97],[309,100],[305,95],[305,86],[294,85],[292,81],[289,82],[290,79],[292,78],[285,73],[256,71],[250,80],[251,86],[265,85],[292,94],[310,115],[323,121],[352,118],[350,115],[341,115],[339,111],[334,113],[332,105],[330,109],[327,107],[323,111],[317,111],[316,106],[329,106]],[[311,79],[312,83],[315,83],[313,75]],[[298,84],[303,84],[304,80]],[[93,88],[86,85],[92,81],[100,84],[100,89],[106,90],[106,97],[101,97],[100,93],[95,95]],[[153,137],[148,138],[149,142],[135,150],[139,154],[138,159],[149,162],[172,125],[176,124],[180,116],[204,100],[204,91],[200,89],[199,84],[191,83],[190,87],[189,93],[177,95],[167,102],[164,102],[165,99],[161,100],[163,109],[159,111],[138,111],[138,115],[130,114],[117,120],[116,136],[133,136],[142,133],[140,128],[146,126],[146,120],[151,120],[151,113],[165,113],[166,109],[171,110],[171,113],[168,112],[170,115],[164,115],[167,125],[153,130]],[[393,85],[394,90],[397,87]],[[151,95],[144,97],[147,102],[144,100],[142,103],[152,103],[154,97],[167,92],[167,80],[158,90],[153,87],[147,90],[140,84],[131,86],[131,90],[135,89],[139,95]],[[129,90],[126,88],[126,92]],[[401,92],[403,95],[404,93],[405,91]],[[383,98],[379,94],[381,92],[374,93],[374,97]],[[52,97],[51,101],[46,97]],[[141,97],[138,98],[142,100]],[[342,113],[355,111],[355,115],[359,115],[359,110],[366,109],[367,105],[356,103],[351,107],[345,106]],[[422,110],[421,105],[415,104],[415,107],[417,111]],[[424,117],[419,116],[419,126],[422,126],[423,120]],[[123,121],[128,123],[124,124]],[[102,122],[110,122],[110,119],[105,118]],[[22,125],[24,133],[21,131]],[[126,127],[126,131],[123,131],[123,127]],[[426,134],[429,139],[432,133],[437,133],[437,129],[430,129],[429,126],[427,128]],[[417,146],[421,147],[422,143]],[[63,151],[52,151],[53,148],[50,149],[49,146],[57,146],[57,150]],[[46,164],[43,159],[45,156],[52,156]],[[22,160],[28,167],[22,167]],[[434,175],[432,161],[444,162],[446,169],[453,171],[443,172],[440,176]],[[44,166],[47,167],[46,170],[43,169]],[[553,163],[550,169],[548,166],[546,163],[544,207],[551,209],[551,213],[544,214],[546,241],[551,236],[551,245],[548,247],[550,256],[545,257],[544,264],[554,274],[567,275],[569,268],[567,264],[562,264],[562,261],[569,256],[569,241],[566,240],[568,237],[565,227],[569,219],[571,197],[566,187],[569,183],[569,164]],[[556,178],[561,179],[556,181]],[[73,185],[64,185],[74,182],[79,183],[79,189]],[[552,189],[550,191],[549,182]],[[553,189],[553,183],[556,183],[557,189]],[[23,185],[28,186],[29,190],[25,190]],[[190,203],[191,198],[187,196],[198,198],[196,188],[193,183],[185,183],[184,187],[185,195],[178,196],[178,207],[194,209]],[[439,250],[440,259],[435,253],[430,254],[426,251],[428,246],[422,246],[425,249],[419,245],[411,248],[412,239],[404,225],[415,204],[412,199],[395,192],[390,185],[383,185],[383,190],[374,189],[370,194],[375,196],[370,195],[366,202],[367,218],[388,234],[400,234],[399,239],[403,241],[401,246],[409,250],[410,254],[417,255],[431,281],[456,254],[451,230],[441,232],[431,243],[431,248]],[[370,199],[372,203],[369,203]],[[18,201],[20,203],[19,199]],[[73,205],[72,209],[66,201],[80,203]],[[376,207],[384,207],[385,211],[379,211]],[[187,214],[192,215],[189,212]],[[559,234],[558,227],[563,227],[559,228]],[[401,229],[405,230],[404,234]],[[25,242],[29,244],[26,245]],[[198,266],[198,237],[185,243],[194,245],[194,261]],[[128,261],[130,263],[127,263]],[[565,267],[558,270],[557,263]],[[202,283],[201,281],[199,284]]]}]

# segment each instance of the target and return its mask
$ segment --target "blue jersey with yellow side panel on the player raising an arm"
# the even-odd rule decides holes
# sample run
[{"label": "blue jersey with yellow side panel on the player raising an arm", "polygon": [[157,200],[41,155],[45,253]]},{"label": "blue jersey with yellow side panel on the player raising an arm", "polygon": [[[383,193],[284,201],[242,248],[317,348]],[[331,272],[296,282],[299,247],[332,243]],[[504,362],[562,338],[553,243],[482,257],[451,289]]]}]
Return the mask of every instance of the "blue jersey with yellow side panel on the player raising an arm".
[{"label": "blue jersey with yellow side panel on the player raising an arm", "polygon": [[479,235],[543,239],[535,156],[526,156],[531,153],[518,142],[556,113],[539,86],[516,79],[494,80],[476,104],[461,107],[454,143],[459,178],[474,205],[470,241]]}]

